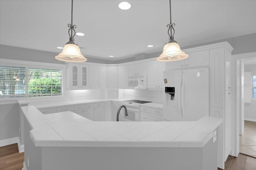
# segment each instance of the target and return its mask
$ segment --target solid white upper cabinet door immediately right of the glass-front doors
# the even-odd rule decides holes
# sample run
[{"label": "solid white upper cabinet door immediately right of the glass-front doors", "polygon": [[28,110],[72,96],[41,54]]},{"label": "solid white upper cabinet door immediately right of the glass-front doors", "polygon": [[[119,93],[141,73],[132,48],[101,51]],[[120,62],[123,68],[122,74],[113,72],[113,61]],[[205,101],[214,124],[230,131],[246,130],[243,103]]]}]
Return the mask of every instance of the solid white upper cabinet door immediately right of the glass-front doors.
[{"label": "solid white upper cabinet door immediately right of the glass-front doors", "polygon": [[89,87],[97,89],[99,87],[99,66],[89,65]]}]

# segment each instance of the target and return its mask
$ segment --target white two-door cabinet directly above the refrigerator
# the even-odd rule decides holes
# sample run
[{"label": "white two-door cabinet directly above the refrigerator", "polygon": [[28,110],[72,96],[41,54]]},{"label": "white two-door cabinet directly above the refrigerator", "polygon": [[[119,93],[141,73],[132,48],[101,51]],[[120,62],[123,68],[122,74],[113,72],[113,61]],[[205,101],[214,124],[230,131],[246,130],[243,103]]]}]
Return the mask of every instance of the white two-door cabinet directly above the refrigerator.
[{"label": "white two-door cabinet directly above the refrigerator", "polygon": [[186,52],[188,58],[166,62],[166,69],[183,69],[190,67],[209,66],[209,50]]}]

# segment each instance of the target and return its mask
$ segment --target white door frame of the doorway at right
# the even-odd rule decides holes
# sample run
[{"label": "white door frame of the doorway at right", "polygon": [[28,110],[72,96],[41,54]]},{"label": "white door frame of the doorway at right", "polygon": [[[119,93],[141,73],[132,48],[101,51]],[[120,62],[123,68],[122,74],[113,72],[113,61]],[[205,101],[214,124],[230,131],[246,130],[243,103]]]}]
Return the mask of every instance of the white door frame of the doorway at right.
[{"label": "white door frame of the doorway at right", "polygon": [[241,97],[241,63],[243,60],[248,59],[256,59],[256,52],[251,53],[242,53],[232,55],[233,60],[233,88],[234,88],[234,95],[233,95],[233,144],[232,144],[232,156],[238,156],[239,154],[239,134],[240,130],[239,127],[241,126],[240,123],[240,116],[241,116],[241,109],[242,103]]}]

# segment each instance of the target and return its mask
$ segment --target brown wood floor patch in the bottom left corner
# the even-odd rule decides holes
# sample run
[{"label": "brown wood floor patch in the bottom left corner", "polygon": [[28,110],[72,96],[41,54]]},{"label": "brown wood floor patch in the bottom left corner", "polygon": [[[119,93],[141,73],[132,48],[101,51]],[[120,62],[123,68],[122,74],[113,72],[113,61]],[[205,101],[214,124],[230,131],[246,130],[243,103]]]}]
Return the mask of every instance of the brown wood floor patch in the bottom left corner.
[{"label": "brown wood floor patch in the bottom left corner", "polygon": [[0,170],[21,170],[24,152],[19,153],[18,144],[0,147]]}]

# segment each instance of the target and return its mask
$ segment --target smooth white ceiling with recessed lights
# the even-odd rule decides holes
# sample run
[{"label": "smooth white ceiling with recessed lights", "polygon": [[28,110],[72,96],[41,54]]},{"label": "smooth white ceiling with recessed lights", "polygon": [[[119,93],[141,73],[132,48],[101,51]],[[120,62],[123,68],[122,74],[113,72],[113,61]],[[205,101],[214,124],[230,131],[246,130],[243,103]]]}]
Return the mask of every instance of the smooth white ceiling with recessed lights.
[{"label": "smooth white ceiling with recessed lights", "polygon": [[[162,51],[168,41],[168,0],[74,0],[75,42],[81,52],[118,60]],[[180,46],[256,33],[256,0],[172,0]],[[0,0],[0,43],[60,53],[68,42],[71,0]],[[152,48],[147,45],[154,45]],[[108,57],[114,55],[113,58]],[[158,57],[158,56],[156,56]]]}]

